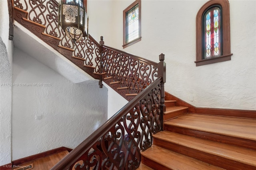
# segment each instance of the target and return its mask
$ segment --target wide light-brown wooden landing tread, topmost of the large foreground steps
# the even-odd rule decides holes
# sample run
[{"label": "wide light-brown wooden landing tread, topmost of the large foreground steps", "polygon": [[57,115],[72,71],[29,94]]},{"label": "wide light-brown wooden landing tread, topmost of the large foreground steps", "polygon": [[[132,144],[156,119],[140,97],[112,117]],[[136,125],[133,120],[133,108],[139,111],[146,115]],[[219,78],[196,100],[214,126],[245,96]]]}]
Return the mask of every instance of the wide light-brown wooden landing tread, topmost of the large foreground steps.
[{"label": "wide light-brown wooden landing tread, topmost of the large foreground steps", "polygon": [[164,124],[256,141],[256,119],[187,113]]}]

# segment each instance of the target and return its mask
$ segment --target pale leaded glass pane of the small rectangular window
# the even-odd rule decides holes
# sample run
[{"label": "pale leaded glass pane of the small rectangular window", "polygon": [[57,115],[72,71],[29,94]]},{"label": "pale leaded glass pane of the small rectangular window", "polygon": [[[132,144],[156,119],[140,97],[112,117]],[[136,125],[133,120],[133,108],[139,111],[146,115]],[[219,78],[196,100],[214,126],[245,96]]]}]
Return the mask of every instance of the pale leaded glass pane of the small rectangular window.
[{"label": "pale leaded glass pane of the small rectangular window", "polygon": [[139,37],[139,6],[127,13],[127,43]]}]

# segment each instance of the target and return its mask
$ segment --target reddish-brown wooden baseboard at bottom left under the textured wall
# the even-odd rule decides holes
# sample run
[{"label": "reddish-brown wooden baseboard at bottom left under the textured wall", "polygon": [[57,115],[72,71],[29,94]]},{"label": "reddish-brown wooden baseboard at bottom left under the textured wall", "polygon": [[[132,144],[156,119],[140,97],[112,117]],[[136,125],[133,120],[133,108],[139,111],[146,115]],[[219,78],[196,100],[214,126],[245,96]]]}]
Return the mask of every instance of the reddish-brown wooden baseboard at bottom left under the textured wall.
[{"label": "reddish-brown wooden baseboard at bottom left under the textured wall", "polygon": [[63,152],[65,150],[68,150],[68,152],[72,151],[72,149],[70,149],[70,148],[59,147],[59,148],[56,148],[56,149],[48,150],[46,152],[42,152],[42,153],[39,153],[39,154],[34,154],[32,156],[28,156],[28,157],[25,157],[25,158],[14,160],[10,164],[0,166],[0,170],[12,170],[12,167],[14,167],[14,166],[18,166],[20,164],[31,162],[31,161],[34,161],[36,159],[44,158],[46,156],[50,156],[52,154]]}]

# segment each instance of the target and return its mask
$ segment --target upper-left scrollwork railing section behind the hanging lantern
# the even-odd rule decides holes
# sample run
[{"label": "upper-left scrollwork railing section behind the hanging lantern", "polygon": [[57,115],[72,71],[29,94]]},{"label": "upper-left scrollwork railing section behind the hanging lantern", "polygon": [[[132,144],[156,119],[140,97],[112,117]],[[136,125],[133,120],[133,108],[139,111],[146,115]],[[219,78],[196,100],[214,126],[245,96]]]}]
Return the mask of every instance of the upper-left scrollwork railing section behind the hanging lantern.
[{"label": "upper-left scrollwork railing section behind the hanging lantern", "polygon": [[72,41],[58,25],[59,8],[56,0],[14,0],[14,4],[28,12],[29,20],[45,25],[44,33],[61,39],[61,46],[74,49],[73,56],[84,59],[84,65],[99,68],[95,62],[99,57],[99,44],[89,36],[83,37],[82,41],[76,41],[73,47]]}]

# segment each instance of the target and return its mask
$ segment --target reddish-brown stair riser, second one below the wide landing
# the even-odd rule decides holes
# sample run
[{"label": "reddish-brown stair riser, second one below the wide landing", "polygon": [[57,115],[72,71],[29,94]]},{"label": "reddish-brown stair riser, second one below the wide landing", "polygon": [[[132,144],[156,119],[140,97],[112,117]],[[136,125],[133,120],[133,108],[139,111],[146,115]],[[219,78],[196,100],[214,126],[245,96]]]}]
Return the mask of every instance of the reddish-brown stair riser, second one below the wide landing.
[{"label": "reddish-brown stair riser, second one below the wide landing", "polygon": [[242,164],[240,162],[236,162],[234,160],[229,160],[227,158],[222,158],[220,156],[216,156],[213,154],[209,154],[206,152],[202,152],[196,149],[192,149],[189,147],[184,147],[175,143],[170,143],[167,141],[163,141],[160,139],[154,138],[154,145],[157,145],[159,147],[163,147],[165,149],[172,150],[174,152],[184,154],[186,156],[190,156],[192,158],[195,158],[197,160],[201,160],[203,162],[206,162],[208,164],[212,164],[214,166],[218,166],[224,169],[228,170],[255,170],[256,167],[247,165],[247,164]]}]

